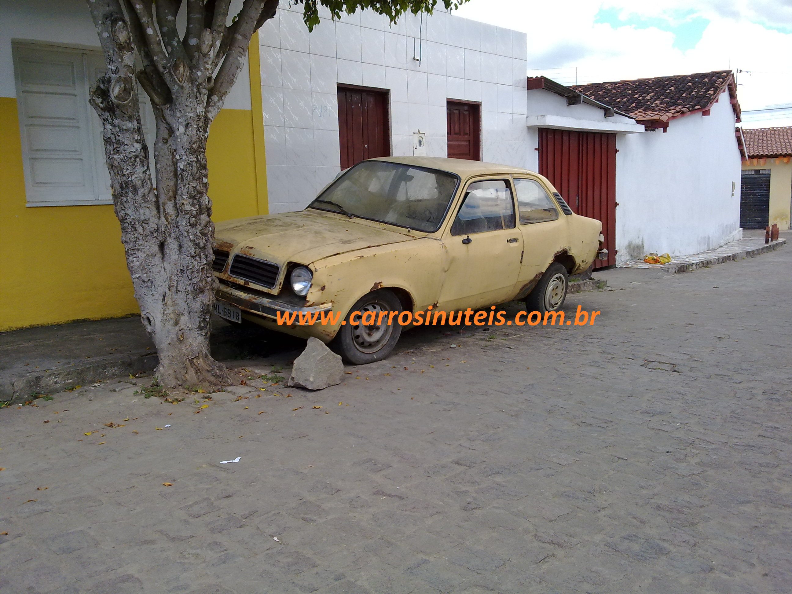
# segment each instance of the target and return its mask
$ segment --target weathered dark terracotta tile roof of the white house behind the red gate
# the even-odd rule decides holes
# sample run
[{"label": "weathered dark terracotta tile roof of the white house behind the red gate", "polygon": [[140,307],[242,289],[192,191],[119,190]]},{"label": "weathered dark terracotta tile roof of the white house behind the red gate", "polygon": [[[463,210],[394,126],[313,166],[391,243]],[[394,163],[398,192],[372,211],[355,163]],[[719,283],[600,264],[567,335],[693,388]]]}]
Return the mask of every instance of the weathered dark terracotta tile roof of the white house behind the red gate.
[{"label": "weathered dark terracotta tile roof of the white house behind the red gate", "polygon": [[[697,109],[707,109],[729,83],[733,85],[732,73],[718,70],[632,81],[594,82],[572,88],[629,113],[636,120],[668,121]],[[739,118],[739,108],[735,112]]]}]

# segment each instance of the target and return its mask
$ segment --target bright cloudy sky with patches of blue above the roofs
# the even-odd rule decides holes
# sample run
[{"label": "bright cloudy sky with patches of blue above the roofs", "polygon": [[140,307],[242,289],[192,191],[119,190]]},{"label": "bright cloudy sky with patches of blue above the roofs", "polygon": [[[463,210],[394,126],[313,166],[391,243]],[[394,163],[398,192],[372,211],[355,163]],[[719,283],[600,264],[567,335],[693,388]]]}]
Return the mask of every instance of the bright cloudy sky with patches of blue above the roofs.
[{"label": "bright cloudy sky with patches of blue above the roofs", "polygon": [[742,109],[763,110],[746,127],[792,125],[792,0],[470,0],[456,14],[526,32],[531,74],[564,84],[742,70]]}]

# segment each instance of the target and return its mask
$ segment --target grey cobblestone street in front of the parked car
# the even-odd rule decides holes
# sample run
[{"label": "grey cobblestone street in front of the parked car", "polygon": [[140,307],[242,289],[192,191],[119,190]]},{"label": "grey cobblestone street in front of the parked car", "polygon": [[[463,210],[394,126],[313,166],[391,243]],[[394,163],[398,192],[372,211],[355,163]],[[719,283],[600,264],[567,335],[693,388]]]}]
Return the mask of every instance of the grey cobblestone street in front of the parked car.
[{"label": "grey cobblestone street in front of the parked car", "polygon": [[318,393],[2,409],[0,591],[790,592],[790,269],[605,272],[593,326],[413,330]]}]

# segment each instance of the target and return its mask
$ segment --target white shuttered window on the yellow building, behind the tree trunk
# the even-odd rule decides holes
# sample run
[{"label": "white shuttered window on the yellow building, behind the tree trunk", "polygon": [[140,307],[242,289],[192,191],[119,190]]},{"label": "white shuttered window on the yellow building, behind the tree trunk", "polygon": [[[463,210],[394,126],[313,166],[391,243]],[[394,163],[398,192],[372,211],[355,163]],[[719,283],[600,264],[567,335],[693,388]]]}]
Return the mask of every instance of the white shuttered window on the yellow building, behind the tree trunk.
[{"label": "white shuttered window on the yellow building, behind the tree trunk", "polygon": [[[28,206],[112,204],[101,124],[88,105],[105,73],[99,51],[13,44]],[[154,139],[154,114],[141,95],[143,131]]]}]

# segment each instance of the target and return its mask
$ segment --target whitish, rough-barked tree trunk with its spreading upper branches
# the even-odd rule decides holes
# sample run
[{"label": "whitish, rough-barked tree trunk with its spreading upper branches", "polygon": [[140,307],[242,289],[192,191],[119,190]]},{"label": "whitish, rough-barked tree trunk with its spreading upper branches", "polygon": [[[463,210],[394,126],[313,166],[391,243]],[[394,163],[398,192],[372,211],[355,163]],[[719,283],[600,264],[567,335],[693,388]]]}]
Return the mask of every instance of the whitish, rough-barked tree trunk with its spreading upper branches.
[{"label": "whitish, rough-barked tree trunk with its spreading upper branches", "polygon": [[[215,228],[206,142],[244,66],[253,32],[275,16],[278,0],[245,0],[228,25],[230,2],[189,0],[183,40],[175,25],[181,0],[87,2],[107,64],[90,102],[102,124],[135,299],[157,347],[157,377],[166,387],[217,389],[230,383],[226,367],[209,352]],[[135,65],[135,53],[143,70]],[[156,187],[135,77],[154,106]]]}]

